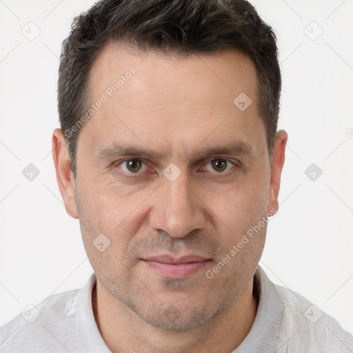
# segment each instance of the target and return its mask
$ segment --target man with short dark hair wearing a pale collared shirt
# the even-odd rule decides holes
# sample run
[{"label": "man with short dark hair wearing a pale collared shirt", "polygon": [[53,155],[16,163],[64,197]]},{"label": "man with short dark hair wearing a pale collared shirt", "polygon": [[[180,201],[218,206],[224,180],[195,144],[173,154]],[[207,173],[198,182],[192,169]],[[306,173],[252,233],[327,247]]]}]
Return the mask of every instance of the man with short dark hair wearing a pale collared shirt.
[{"label": "man with short dark hair wearing a pale collared shirt", "polygon": [[353,352],[258,265],[288,140],[280,91],[274,33],[247,1],[107,0],[77,17],[52,146],[94,274],[2,327],[1,352]]}]

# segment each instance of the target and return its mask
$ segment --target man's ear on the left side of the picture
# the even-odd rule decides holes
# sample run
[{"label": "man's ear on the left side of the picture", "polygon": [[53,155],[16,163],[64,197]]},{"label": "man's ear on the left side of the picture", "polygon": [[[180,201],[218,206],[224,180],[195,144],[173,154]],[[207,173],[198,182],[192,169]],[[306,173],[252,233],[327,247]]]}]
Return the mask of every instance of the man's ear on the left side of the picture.
[{"label": "man's ear on the left side of the picture", "polygon": [[74,193],[74,176],[71,170],[66,140],[61,129],[55,129],[52,134],[52,159],[54,159],[57,182],[66,212],[73,218],[79,218]]}]

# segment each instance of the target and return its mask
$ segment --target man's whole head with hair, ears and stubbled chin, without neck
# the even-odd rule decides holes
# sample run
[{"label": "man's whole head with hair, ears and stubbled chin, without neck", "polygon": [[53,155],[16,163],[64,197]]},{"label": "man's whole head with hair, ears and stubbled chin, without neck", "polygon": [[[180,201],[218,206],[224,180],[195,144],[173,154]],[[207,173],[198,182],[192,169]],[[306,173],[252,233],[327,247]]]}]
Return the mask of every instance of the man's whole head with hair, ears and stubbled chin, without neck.
[{"label": "man's whole head with hair, ears and stubbled chin, without neck", "polygon": [[[250,285],[278,209],[280,90],[274,33],[247,1],[108,0],[74,19],[59,188],[101,288],[148,323],[206,325]],[[205,261],[176,272],[159,255]]]}]

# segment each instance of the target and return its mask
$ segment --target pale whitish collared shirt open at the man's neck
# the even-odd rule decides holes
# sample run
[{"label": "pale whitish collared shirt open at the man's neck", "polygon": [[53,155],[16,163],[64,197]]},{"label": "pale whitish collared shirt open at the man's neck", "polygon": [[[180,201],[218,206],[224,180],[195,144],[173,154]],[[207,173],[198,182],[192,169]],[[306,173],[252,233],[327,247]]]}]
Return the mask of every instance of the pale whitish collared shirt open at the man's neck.
[{"label": "pale whitish collared shirt open at the man's neck", "polygon": [[[300,294],[274,285],[260,266],[255,279],[259,285],[255,321],[241,345],[230,353],[353,352],[353,336],[331,316]],[[48,296],[3,325],[0,352],[111,353],[94,321],[95,281],[92,274],[81,290]]]}]

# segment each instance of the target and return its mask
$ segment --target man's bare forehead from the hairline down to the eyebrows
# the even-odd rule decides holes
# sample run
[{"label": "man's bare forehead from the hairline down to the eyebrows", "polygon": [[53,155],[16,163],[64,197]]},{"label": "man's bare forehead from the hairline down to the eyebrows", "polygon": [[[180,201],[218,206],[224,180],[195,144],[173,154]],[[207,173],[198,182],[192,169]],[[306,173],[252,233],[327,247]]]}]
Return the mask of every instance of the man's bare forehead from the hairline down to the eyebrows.
[{"label": "man's bare forehead from the hairline down to the eyebrows", "polygon": [[[88,88],[91,104],[105,97],[83,129],[96,147],[103,148],[102,141],[106,147],[146,141],[157,148],[205,139],[229,144],[233,137],[250,145],[265,141],[259,137],[256,69],[241,52],[179,57],[109,43],[94,62]],[[234,103],[238,97],[247,109]]]}]

